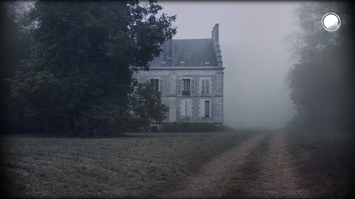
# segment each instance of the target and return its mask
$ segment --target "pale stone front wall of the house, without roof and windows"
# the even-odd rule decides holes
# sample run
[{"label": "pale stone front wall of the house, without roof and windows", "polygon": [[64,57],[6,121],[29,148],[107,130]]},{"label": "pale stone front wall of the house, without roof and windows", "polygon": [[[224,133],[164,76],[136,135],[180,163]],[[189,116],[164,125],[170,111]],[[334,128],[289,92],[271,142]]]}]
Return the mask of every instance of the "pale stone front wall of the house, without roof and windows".
[{"label": "pale stone front wall of the house, without roof and windows", "polygon": [[[169,113],[166,122],[223,122],[223,69],[220,67],[209,67],[207,69],[196,70],[190,68],[150,68],[149,71],[139,70],[134,75],[140,83],[146,82],[146,79],[159,78],[164,79],[164,95],[162,102],[169,107]],[[178,95],[178,79],[195,79],[195,95]],[[210,95],[200,95],[200,79],[210,79]],[[191,113],[189,119],[182,120],[180,113],[181,99],[191,99]],[[211,117],[200,117],[200,99],[211,100]]]}]

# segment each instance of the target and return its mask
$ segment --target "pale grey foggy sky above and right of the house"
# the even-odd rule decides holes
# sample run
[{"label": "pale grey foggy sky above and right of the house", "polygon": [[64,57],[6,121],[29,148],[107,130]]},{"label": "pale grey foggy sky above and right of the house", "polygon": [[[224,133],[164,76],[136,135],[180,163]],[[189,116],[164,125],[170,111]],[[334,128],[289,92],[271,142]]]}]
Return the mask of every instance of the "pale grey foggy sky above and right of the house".
[{"label": "pale grey foggy sky above and right of the house", "polygon": [[297,30],[296,1],[159,1],[162,12],[177,15],[173,39],[211,38],[219,23],[224,73],[224,124],[279,127],[293,109],[284,77],[293,66],[282,37]]}]

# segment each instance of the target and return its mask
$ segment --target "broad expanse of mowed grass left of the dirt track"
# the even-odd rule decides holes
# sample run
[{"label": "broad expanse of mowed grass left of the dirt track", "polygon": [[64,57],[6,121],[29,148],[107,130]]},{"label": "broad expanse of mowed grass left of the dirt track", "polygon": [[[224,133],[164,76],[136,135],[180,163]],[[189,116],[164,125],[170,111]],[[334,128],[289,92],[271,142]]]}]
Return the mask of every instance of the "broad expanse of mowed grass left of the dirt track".
[{"label": "broad expanse of mowed grass left of the dirt track", "polygon": [[3,136],[1,166],[6,191],[15,198],[150,198],[157,191],[181,186],[184,176],[254,133]]}]

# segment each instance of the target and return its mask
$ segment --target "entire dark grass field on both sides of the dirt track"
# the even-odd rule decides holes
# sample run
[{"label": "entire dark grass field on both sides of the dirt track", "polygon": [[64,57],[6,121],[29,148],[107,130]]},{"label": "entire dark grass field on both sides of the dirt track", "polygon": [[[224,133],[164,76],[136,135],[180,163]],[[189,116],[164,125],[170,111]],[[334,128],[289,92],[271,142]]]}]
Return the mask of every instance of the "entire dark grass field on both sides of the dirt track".
[{"label": "entire dark grass field on both sides of the dirt track", "polygon": [[[6,178],[1,184],[15,198],[154,198],[161,191],[181,189],[186,176],[196,175],[202,165],[260,132],[2,136],[1,171]],[[290,165],[302,179],[298,187],[316,198],[355,197],[355,133],[284,133]],[[258,178],[272,136],[272,131],[266,133],[236,171],[250,180]],[[239,192],[230,193],[237,197]]]}]

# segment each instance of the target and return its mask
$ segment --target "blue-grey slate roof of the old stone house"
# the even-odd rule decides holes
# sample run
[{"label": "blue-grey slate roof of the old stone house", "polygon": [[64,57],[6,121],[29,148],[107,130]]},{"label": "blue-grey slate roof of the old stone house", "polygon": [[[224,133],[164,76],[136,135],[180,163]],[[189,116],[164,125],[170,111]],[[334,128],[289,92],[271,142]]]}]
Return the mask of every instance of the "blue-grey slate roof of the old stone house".
[{"label": "blue-grey slate roof of the old stone house", "polygon": [[208,66],[218,66],[214,39],[173,39],[172,59],[169,59],[168,43],[162,45],[163,52],[150,62],[150,67],[206,66],[205,61],[209,61]]}]

